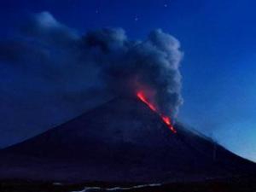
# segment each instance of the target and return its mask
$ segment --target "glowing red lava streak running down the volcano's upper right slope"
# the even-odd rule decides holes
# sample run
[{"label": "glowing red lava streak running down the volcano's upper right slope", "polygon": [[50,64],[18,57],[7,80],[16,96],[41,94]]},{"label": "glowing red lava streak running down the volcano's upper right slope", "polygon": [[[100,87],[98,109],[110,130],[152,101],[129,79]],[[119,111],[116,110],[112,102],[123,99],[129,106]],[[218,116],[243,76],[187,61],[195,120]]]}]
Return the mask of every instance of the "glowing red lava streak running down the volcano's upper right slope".
[{"label": "glowing red lava streak running down the volcano's upper right slope", "polygon": [[165,122],[165,124],[168,126],[168,128],[173,132],[173,133],[177,133],[177,131],[174,129],[173,125],[172,125],[172,121],[169,117],[167,117],[166,115],[163,115],[161,113],[159,113],[157,111],[157,109],[154,107],[154,105],[150,102],[148,102],[148,99],[146,98],[145,94],[143,93],[143,91],[138,91],[137,92],[137,97],[144,103],[146,103],[148,105],[148,108],[150,108],[152,111],[154,111],[155,113],[158,113],[160,115],[160,118]]}]

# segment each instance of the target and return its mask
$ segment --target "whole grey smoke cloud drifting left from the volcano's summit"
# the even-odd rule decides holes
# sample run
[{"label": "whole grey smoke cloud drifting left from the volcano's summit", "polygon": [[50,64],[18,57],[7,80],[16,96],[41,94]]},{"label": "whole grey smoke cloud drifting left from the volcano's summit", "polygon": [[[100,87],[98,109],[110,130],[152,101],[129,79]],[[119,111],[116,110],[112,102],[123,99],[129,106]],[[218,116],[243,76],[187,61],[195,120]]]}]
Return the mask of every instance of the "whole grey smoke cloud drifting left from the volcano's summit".
[{"label": "whole grey smoke cloud drifting left from the volcano's summit", "polygon": [[16,104],[8,106],[10,112],[40,108],[45,116],[77,114],[113,96],[145,90],[173,117],[183,101],[179,48],[177,39],[161,30],[142,41],[130,40],[121,28],[80,35],[43,12],[20,28],[18,38],[0,42],[1,97]]}]

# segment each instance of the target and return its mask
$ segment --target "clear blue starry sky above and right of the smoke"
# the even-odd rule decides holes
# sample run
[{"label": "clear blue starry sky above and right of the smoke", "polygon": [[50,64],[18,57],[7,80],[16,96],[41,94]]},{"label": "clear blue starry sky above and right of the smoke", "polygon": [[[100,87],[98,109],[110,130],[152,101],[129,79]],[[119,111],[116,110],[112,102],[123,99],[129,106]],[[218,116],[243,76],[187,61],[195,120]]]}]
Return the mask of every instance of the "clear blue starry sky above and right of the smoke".
[{"label": "clear blue starry sky above and right of the smoke", "polygon": [[22,18],[42,11],[79,33],[118,26],[140,39],[161,28],[184,52],[179,119],[256,160],[255,6],[253,0],[9,0],[0,3],[0,35],[12,37]]}]

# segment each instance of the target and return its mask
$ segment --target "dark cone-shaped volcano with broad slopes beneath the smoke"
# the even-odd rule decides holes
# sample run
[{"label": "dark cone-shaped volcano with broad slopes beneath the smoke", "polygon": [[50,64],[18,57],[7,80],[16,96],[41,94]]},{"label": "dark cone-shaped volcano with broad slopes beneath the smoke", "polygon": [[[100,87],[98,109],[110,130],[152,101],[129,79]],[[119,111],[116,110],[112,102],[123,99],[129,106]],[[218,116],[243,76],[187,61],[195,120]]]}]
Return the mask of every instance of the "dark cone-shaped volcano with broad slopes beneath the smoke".
[{"label": "dark cone-shaped volcano with broad slopes beneath the smoke", "polygon": [[256,166],[137,98],[118,97],[0,151],[0,179],[154,183],[233,177]]}]

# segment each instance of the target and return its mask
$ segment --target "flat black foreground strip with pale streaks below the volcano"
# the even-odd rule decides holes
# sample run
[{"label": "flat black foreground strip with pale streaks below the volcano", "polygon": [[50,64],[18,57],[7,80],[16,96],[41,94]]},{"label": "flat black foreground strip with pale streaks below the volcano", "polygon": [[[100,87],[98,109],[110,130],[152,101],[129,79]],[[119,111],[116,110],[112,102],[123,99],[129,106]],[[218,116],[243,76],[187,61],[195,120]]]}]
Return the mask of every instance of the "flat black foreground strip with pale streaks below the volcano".
[{"label": "flat black foreground strip with pale streaks below the volcano", "polygon": [[[100,187],[99,187],[100,186]],[[117,187],[119,186],[119,187]],[[230,179],[212,179],[204,182],[166,183],[166,184],[128,184],[128,183],[37,183],[29,181],[2,181],[1,192],[255,192],[256,177],[234,177]]]}]

